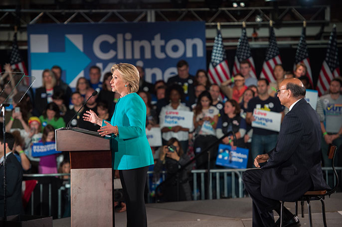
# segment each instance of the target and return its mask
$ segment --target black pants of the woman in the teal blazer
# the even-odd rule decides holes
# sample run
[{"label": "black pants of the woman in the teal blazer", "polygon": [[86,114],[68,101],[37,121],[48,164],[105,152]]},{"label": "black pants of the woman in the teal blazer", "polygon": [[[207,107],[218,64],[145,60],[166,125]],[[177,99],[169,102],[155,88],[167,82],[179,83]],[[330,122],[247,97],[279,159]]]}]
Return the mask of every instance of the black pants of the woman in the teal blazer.
[{"label": "black pants of the woman in the teal blazer", "polygon": [[144,189],[149,166],[119,170],[127,208],[127,227],[147,227]]}]

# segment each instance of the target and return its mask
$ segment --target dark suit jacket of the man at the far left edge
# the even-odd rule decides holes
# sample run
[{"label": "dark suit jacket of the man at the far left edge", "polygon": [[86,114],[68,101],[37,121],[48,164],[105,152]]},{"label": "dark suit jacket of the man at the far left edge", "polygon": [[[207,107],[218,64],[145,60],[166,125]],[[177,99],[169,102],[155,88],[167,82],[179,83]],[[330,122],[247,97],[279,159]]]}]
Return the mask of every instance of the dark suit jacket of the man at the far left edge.
[{"label": "dark suit jacket of the man at the far left edge", "polygon": [[[6,159],[7,216],[23,214],[21,200],[22,167],[13,153]],[[0,217],[3,217],[3,163],[0,166]]]}]

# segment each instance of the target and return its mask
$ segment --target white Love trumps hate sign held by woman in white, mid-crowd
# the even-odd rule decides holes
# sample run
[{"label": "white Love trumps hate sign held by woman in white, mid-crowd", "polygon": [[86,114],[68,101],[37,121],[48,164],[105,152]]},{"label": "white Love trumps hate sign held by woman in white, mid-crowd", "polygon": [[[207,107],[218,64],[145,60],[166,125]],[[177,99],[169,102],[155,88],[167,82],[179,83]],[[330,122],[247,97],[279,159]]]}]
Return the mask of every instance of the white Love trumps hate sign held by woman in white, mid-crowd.
[{"label": "white Love trumps hate sign held by woman in white, mid-crowd", "polygon": [[162,127],[182,126],[191,129],[193,127],[193,112],[191,111],[165,111],[161,115],[160,123]]}]

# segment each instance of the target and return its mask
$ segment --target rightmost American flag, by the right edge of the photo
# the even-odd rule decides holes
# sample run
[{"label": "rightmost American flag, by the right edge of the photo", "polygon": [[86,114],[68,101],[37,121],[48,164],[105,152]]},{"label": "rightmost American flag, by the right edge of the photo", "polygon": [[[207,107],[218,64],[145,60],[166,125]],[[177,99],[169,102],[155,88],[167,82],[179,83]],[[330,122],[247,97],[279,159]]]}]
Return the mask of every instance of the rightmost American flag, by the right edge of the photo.
[{"label": "rightmost American flag, by the right edge of the photo", "polygon": [[337,48],[336,25],[334,24],[333,31],[330,34],[326,59],[324,60],[320,72],[320,77],[317,83],[318,94],[324,95],[329,90],[329,85],[332,79],[339,77],[340,64],[339,52]]}]

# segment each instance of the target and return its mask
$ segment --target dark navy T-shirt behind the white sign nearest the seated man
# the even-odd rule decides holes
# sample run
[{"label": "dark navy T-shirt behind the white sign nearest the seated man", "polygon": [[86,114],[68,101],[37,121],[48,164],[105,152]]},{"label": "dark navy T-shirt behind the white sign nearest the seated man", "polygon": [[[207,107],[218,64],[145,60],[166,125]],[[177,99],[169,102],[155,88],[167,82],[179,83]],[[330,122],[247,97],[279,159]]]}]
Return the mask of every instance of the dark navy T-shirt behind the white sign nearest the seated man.
[{"label": "dark navy T-shirt behind the white sign nearest the seated man", "polygon": [[[283,112],[284,111],[284,106],[280,104],[280,101],[278,98],[274,97],[268,97],[267,100],[261,100],[259,96],[252,98],[248,102],[248,108],[247,108],[247,113],[252,113],[254,109],[258,110],[264,110],[264,111],[272,111],[272,112]],[[253,134],[257,135],[271,135],[271,134],[278,134],[276,131],[271,131],[267,130],[264,128],[257,128],[253,127]]]}]

